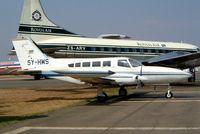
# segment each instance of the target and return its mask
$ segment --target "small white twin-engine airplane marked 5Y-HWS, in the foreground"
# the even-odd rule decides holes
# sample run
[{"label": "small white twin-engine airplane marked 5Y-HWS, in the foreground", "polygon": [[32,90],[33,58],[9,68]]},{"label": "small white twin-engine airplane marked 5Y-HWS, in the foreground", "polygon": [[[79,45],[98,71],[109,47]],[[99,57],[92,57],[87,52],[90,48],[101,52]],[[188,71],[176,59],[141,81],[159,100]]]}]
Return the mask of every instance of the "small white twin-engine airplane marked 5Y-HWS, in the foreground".
[{"label": "small white twin-engine airplane marked 5Y-HWS, in the foreground", "polygon": [[[30,39],[13,40],[13,45],[23,71],[41,71],[50,78],[76,84],[96,85],[99,87],[99,101],[107,99],[102,89],[103,85],[117,85],[120,87],[119,95],[126,96],[127,86],[169,85],[191,77],[191,74],[182,70],[143,66],[140,62],[127,57],[55,59],[45,55]],[[172,96],[172,92],[168,90],[166,97]]]}]

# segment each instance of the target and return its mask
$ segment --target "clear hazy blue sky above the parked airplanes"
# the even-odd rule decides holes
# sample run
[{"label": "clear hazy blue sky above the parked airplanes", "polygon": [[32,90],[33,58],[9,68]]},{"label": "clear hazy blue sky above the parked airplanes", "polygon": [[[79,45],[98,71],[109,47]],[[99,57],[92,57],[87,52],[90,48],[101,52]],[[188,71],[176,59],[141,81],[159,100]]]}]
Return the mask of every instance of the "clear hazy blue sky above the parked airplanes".
[{"label": "clear hazy blue sky above the parked airplanes", "polygon": [[[200,46],[200,0],[41,0],[47,16],[65,29],[96,37],[187,42]],[[8,60],[23,0],[1,0],[0,61]]]}]

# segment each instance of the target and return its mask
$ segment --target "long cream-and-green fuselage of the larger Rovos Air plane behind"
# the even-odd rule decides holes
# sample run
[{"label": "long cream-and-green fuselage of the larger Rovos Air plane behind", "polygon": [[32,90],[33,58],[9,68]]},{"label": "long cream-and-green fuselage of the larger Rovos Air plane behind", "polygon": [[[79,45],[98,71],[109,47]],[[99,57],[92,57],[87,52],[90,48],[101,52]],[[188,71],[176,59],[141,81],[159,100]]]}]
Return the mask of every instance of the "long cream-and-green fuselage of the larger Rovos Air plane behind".
[{"label": "long cream-and-green fuselage of the larger Rovos Air plane behind", "polygon": [[[199,48],[192,44],[158,41],[140,41],[131,39],[102,39],[77,36],[31,35],[40,48],[53,57],[89,58],[89,57],[131,57],[144,61],[152,57],[182,51],[196,53]],[[22,36],[28,36],[23,35]],[[41,40],[42,39],[42,40]]]}]

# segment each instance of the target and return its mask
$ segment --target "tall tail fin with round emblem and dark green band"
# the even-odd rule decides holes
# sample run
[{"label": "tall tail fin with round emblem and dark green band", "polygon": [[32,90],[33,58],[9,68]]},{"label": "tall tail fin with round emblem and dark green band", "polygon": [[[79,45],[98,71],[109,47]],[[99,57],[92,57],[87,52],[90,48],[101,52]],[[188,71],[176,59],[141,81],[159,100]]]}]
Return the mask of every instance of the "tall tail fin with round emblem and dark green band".
[{"label": "tall tail fin with round emblem and dark green band", "polygon": [[[29,37],[34,41],[48,39],[49,36],[80,36],[54,24],[45,15],[40,0],[24,0],[18,38]],[[53,38],[53,37],[51,37]]]}]

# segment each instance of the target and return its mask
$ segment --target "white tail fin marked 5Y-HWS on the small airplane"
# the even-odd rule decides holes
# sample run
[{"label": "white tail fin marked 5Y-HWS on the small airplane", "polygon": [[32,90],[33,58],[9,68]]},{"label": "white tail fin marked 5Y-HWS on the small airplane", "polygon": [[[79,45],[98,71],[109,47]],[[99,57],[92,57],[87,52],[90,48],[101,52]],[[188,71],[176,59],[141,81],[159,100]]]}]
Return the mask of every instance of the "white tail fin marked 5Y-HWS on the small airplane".
[{"label": "white tail fin marked 5Y-HWS on the small airplane", "polygon": [[22,70],[38,70],[50,65],[50,57],[46,56],[31,40],[13,40]]}]

